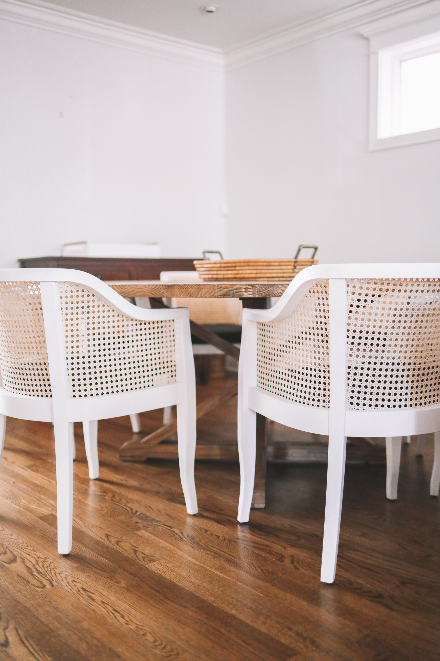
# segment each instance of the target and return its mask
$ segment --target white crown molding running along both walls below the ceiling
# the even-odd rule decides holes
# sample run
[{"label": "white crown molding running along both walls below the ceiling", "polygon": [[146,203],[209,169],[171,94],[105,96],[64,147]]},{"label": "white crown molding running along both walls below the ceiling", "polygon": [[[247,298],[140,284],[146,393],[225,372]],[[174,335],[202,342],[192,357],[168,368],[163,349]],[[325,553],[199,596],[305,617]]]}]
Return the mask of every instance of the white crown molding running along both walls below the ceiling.
[{"label": "white crown molding running along both walls below the ceiling", "polygon": [[57,7],[43,0],[0,0],[0,19],[3,20],[218,71],[236,69],[338,32],[361,28],[358,32],[370,38],[439,14],[440,0],[360,0],[350,7],[274,30],[224,52],[220,48]]}]

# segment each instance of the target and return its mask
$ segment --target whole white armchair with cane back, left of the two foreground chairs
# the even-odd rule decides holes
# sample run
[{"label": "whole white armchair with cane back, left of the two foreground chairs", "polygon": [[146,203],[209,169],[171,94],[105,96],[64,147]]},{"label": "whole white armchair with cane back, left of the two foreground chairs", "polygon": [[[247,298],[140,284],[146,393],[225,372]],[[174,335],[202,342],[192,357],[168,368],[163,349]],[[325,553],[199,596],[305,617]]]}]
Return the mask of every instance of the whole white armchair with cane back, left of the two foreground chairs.
[{"label": "whole white armchair with cane back, left of the two foreground chairs", "polygon": [[53,422],[59,553],[72,547],[74,422],[95,479],[97,420],[177,405],[181,484],[197,513],[187,309],[142,309],[82,271],[2,269],[0,373],[0,459],[7,416]]}]

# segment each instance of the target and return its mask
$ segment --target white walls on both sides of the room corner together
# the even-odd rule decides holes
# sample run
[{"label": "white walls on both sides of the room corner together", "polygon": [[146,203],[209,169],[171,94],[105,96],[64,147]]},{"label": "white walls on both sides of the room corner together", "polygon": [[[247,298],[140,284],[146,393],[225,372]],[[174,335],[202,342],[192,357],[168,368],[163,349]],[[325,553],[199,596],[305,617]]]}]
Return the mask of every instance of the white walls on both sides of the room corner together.
[{"label": "white walls on both sides of the room corner together", "polygon": [[367,50],[339,34],[229,71],[225,124],[220,71],[0,20],[0,266],[103,237],[439,260],[440,141],[367,150]]}]

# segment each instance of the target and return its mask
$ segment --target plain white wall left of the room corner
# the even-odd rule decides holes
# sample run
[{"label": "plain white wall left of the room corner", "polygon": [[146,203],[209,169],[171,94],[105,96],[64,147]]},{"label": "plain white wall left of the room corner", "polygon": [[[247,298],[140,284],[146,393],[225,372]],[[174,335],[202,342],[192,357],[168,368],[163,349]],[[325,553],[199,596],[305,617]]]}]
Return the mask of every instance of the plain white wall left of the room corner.
[{"label": "plain white wall left of the room corner", "polygon": [[220,71],[0,20],[0,266],[84,239],[222,250],[224,195]]}]

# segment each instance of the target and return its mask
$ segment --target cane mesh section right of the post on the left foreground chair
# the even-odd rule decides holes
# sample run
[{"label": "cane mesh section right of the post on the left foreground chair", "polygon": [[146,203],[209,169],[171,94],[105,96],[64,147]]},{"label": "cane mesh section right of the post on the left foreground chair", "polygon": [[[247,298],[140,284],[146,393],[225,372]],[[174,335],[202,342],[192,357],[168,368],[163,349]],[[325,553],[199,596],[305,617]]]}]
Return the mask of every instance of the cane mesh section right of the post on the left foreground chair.
[{"label": "cane mesh section right of the post on the left foreground chair", "polygon": [[131,319],[81,285],[59,288],[71,397],[175,383],[173,319]]}]

